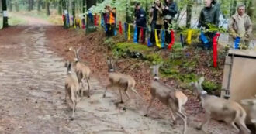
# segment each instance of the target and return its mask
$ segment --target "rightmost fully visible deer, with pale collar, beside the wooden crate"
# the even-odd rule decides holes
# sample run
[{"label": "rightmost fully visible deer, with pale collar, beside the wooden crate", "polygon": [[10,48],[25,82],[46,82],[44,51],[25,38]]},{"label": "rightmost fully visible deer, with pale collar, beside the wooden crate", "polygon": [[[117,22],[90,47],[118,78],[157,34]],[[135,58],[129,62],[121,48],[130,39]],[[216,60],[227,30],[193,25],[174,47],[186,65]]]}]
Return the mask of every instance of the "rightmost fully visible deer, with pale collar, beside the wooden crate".
[{"label": "rightmost fully visible deer, with pale collar, beside the wooden crate", "polygon": [[[237,132],[243,130],[243,132],[251,133],[245,125],[247,114],[244,108],[236,101],[207,94],[207,92],[202,88],[203,81],[204,77],[200,77],[199,81],[190,83],[193,88],[193,93],[200,98],[202,108],[206,111],[206,121],[197,129],[203,129],[204,126],[209,124],[210,119],[216,119],[226,122],[228,125],[236,129]],[[237,128],[235,123],[240,126],[240,129]]]}]

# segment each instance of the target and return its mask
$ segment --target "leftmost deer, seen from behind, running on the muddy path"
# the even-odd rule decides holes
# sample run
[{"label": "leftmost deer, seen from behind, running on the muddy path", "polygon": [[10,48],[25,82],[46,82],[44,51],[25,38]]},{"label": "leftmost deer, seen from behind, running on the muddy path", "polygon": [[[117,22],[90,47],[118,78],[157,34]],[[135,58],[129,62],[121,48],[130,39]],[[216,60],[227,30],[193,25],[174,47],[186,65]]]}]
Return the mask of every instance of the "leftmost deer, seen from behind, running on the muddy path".
[{"label": "leftmost deer, seen from behind, running on the muddy path", "polygon": [[75,108],[79,100],[78,92],[80,90],[80,84],[78,83],[78,80],[72,76],[70,61],[65,63],[65,67],[67,67],[67,77],[66,77],[65,86],[64,86],[65,102],[67,102],[67,96],[68,96],[72,102],[72,117],[74,117]]}]

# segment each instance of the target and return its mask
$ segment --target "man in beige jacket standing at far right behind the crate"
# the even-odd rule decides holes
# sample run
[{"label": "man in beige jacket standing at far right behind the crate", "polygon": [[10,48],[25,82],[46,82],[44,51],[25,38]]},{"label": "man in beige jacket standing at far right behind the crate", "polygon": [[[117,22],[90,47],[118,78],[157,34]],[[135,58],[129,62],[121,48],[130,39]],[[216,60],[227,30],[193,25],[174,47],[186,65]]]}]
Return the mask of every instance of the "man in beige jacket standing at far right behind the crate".
[{"label": "man in beige jacket standing at far right behind the crate", "polygon": [[244,13],[245,5],[237,6],[237,13],[230,18],[228,32],[230,34],[230,46],[234,46],[234,40],[240,37],[240,43],[249,46],[250,35],[252,32],[252,23],[250,16]]}]

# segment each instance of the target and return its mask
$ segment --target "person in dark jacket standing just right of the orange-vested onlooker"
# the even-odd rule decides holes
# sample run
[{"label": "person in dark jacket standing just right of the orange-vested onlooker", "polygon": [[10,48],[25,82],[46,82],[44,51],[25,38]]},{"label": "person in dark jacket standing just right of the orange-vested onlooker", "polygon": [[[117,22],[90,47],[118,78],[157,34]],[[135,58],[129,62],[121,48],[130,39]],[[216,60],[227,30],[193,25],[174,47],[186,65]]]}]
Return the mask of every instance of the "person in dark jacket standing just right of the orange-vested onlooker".
[{"label": "person in dark jacket standing just right of the orange-vested onlooker", "polygon": [[147,28],[147,14],[140,7],[140,2],[137,2],[135,4],[135,18],[136,20],[134,21],[135,24],[137,25],[137,42],[140,40],[140,29],[143,29],[143,36],[142,36],[142,43],[145,43],[145,33],[146,33],[146,28]]}]

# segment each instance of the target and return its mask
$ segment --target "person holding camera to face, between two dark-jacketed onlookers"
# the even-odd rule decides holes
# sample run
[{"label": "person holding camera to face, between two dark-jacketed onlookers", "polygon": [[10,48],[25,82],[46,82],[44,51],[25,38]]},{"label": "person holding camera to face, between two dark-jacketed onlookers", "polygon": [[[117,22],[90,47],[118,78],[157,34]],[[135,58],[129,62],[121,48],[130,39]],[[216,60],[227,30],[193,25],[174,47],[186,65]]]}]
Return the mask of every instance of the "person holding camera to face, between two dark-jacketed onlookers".
[{"label": "person holding camera to face, between two dark-jacketed onlookers", "polygon": [[[151,26],[151,33],[150,33],[150,42],[156,43],[154,31],[157,29],[157,36],[161,31],[161,27],[163,25],[163,10],[164,7],[161,5],[160,0],[155,0],[154,5],[152,5],[149,15],[150,15],[150,26]],[[159,38],[159,36],[158,36]]]}]

